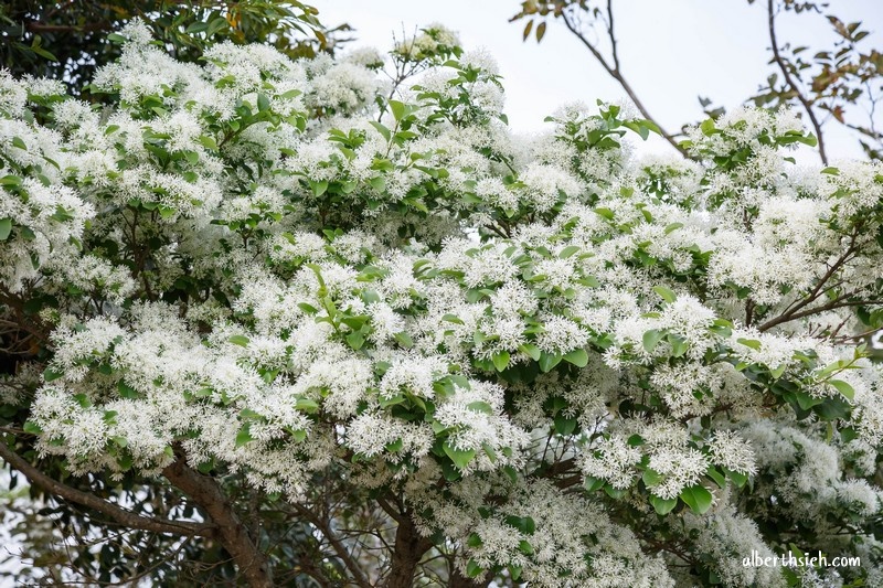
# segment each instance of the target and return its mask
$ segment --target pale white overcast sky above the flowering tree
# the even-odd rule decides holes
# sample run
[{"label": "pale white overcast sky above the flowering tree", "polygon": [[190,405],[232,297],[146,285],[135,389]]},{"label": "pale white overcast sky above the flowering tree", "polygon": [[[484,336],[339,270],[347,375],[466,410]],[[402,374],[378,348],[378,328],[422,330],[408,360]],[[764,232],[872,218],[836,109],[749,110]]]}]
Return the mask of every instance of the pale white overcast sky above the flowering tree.
[{"label": "pale white overcast sky above the flowering tree", "polygon": [[[320,20],[347,22],[355,31],[350,46],[386,50],[426,24],[457,31],[466,49],[487,47],[500,64],[507,114],[515,131],[542,129],[543,118],[563,104],[615,101],[623,89],[561,22],[550,22],[539,45],[522,42],[525,22],[510,23],[518,0],[313,0]],[[883,46],[883,0],[830,0],[830,11],[847,22],[861,20],[872,31],[865,49]],[[698,120],[696,96],[732,108],[752,96],[773,72],[766,2],[746,0],[617,0],[614,15],[623,72],[650,114],[669,130]],[[780,42],[828,47],[833,35],[822,17],[780,19]],[[880,121],[883,125],[883,120]],[[828,125],[831,159],[861,157],[854,140]],[[667,151],[663,141],[640,150]],[[802,158],[801,158],[802,159]]]}]

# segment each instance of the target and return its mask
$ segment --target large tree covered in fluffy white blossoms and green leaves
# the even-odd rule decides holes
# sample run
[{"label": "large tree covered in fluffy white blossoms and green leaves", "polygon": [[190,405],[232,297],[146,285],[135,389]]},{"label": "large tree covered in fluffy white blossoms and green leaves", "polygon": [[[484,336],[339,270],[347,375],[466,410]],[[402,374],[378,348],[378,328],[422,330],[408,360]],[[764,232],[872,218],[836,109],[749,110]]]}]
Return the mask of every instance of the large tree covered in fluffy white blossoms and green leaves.
[{"label": "large tree covered in fluffy white blossoms and green leaves", "polygon": [[[0,77],[0,458],[64,574],[883,582],[883,165],[798,167],[788,110],[517,138],[440,26],[386,77],[121,38],[111,108]],[[788,546],[863,565],[743,565]]]}]

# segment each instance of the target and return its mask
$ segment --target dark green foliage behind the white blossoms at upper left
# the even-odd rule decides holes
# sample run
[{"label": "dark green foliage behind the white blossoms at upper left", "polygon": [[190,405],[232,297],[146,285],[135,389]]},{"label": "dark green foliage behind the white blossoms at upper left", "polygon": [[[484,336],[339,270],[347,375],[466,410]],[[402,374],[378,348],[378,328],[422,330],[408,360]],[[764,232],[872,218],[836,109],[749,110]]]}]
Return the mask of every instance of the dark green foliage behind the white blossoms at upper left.
[{"label": "dark green foliage behind the white blossoms at upper left", "polygon": [[0,6],[0,65],[14,75],[63,79],[79,92],[98,67],[119,57],[113,34],[132,20],[143,21],[180,61],[195,62],[225,40],[269,43],[290,57],[312,57],[331,50],[349,29],[329,31],[317,13],[297,0],[12,0]]}]

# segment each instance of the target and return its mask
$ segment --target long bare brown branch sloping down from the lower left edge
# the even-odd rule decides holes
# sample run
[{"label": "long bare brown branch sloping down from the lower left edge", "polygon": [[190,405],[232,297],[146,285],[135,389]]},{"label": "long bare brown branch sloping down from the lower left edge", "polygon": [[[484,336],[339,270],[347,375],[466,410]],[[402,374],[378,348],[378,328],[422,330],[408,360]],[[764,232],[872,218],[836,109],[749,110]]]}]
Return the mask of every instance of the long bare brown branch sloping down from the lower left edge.
[{"label": "long bare brown branch sloping down from the lower left edge", "polygon": [[9,446],[0,442],[0,458],[13,467],[15,470],[24,474],[28,480],[39,485],[50,494],[62,498],[68,502],[87,506],[94,511],[105,514],[116,521],[117,523],[131,528],[140,528],[142,531],[151,531],[153,533],[169,533],[172,535],[200,535],[210,536],[214,530],[214,525],[188,523],[184,521],[171,521],[168,518],[157,518],[151,516],[142,516],[120,506],[113,502],[71,488],[54,480],[45,473],[38,470],[34,466],[29,463],[24,458],[15,453]]}]

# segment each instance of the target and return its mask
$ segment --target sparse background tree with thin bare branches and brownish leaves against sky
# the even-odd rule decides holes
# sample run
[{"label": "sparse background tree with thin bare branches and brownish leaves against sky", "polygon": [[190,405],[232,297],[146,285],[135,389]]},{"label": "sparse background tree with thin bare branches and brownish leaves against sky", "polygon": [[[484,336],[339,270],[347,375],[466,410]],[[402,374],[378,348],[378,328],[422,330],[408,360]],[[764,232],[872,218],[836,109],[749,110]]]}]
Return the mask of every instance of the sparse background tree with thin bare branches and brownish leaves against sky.
[{"label": "sparse background tree with thin bare branches and brownish leaves against sky", "polygon": [[[748,3],[754,2],[748,0]],[[826,13],[828,2],[767,0],[758,3],[768,14],[769,63],[775,71],[748,100],[770,108],[789,106],[801,113],[818,140],[823,164],[828,163],[823,126],[830,121],[851,129],[869,158],[881,159],[883,133],[879,128],[877,103],[883,97],[883,54],[874,49],[863,49],[866,43],[862,41],[868,36],[868,30],[862,29],[861,22],[844,23],[836,14]],[[521,2],[521,10],[511,20],[526,20],[524,40],[534,33],[540,42],[549,19],[561,19],[592,57],[619,83],[641,115],[656,122],[619,63],[614,4],[613,0],[528,0]],[[837,35],[834,45],[794,46],[781,40],[776,23],[780,14],[787,12],[823,15]],[[711,108],[710,99],[700,97],[700,101],[708,115],[723,114],[722,108]],[[672,147],[687,153],[679,145],[680,133],[664,129],[661,133]]]}]

